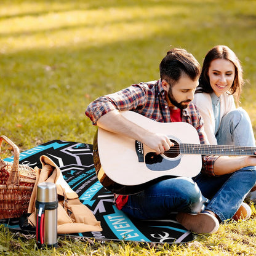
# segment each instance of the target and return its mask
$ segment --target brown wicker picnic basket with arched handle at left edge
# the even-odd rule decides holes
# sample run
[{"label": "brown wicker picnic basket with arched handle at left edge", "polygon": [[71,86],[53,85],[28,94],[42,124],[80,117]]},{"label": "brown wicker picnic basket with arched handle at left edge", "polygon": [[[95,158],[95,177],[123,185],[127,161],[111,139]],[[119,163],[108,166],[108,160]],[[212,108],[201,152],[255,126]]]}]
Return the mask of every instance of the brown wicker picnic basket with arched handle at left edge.
[{"label": "brown wicker picnic basket with arched handle at left edge", "polygon": [[0,219],[20,217],[27,212],[30,196],[36,182],[36,171],[18,164],[20,150],[9,138],[0,136],[14,149],[14,162],[5,162],[0,158]]}]

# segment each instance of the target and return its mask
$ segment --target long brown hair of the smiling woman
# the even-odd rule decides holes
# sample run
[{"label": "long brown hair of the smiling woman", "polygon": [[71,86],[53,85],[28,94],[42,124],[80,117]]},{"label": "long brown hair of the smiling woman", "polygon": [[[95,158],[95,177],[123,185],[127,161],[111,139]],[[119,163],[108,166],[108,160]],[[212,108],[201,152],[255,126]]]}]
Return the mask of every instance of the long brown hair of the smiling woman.
[{"label": "long brown hair of the smiling woman", "polygon": [[199,78],[199,86],[198,89],[196,89],[196,93],[206,92],[207,94],[211,94],[214,92],[210,86],[208,71],[210,63],[217,58],[228,60],[234,65],[234,81],[228,91],[228,94],[234,95],[236,103],[239,104],[242,86],[244,85],[244,79],[242,78],[242,66],[236,54],[228,46],[215,46],[207,52],[206,57],[204,57],[204,63],[202,65],[202,71]]}]

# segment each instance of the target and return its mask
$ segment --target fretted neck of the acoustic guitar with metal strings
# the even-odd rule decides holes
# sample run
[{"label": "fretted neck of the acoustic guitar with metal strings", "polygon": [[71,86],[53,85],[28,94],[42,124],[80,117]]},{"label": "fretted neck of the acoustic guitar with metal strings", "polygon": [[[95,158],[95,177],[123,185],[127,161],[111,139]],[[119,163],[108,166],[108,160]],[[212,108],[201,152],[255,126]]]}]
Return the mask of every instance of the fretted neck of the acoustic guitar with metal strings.
[{"label": "fretted neck of the acoustic guitar with metal strings", "polygon": [[224,146],[206,144],[179,144],[183,154],[215,154],[220,156],[255,156],[256,148],[250,146]]}]

